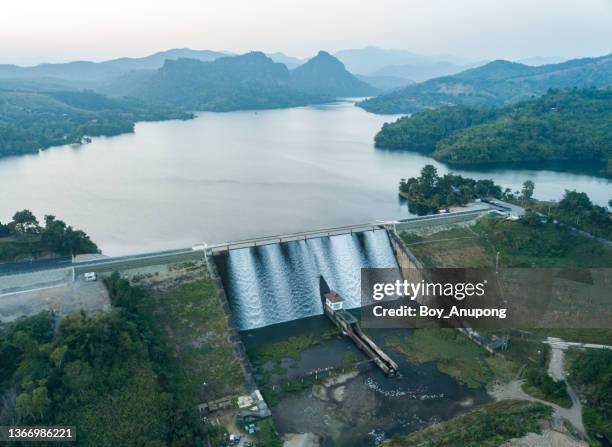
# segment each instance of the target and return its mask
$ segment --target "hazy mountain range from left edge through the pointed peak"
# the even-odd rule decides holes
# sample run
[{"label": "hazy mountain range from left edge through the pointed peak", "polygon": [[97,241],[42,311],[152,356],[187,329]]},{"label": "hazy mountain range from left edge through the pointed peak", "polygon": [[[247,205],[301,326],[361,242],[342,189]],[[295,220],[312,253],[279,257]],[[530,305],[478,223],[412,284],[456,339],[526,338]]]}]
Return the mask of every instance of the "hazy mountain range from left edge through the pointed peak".
[{"label": "hazy mountain range from left edge through the pointed peak", "polygon": [[[106,62],[3,65],[0,89],[39,93],[87,89],[214,111],[291,107],[379,92],[349,73],[329,53],[322,51],[301,62],[283,53],[235,56],[175,49]],[[287,65],[298,66],[289,70]]]}]

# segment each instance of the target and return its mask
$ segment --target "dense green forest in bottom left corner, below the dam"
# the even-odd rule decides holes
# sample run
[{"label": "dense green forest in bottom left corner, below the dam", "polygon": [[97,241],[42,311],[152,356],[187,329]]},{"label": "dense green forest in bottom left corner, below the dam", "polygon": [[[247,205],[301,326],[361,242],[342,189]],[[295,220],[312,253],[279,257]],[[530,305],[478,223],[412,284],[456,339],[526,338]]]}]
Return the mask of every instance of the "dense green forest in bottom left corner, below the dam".
[{"label": "dense green forest in bottom left corner, below the dam", "polygon": [[143,290],[117,274],[107,287],[109,312],[57,330],[48,312],[0,325],[0,424],[76,426],[78,445],[203,445],[165,379],[169,351],[139,314]]}]

